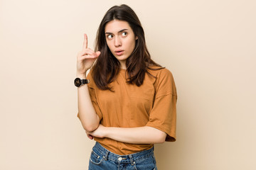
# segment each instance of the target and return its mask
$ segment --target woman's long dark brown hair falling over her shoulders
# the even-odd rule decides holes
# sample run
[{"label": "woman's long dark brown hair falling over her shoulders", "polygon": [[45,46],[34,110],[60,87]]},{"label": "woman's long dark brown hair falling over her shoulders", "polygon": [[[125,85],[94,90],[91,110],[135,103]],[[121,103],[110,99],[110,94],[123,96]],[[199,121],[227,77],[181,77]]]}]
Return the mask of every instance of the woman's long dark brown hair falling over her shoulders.
[{"label": "woman's long dark brown hair falling over her shoulders", "polygon": [[149,74],[148,69],[152,69],[150,66],[155,65],[160,67],[159,69],[162,67],[151,60],[149,51],[146,48],[146,40],[142,24],[132,8],[124,4],[121,6],[113,6],[102,18],[95,41],[95,51],[100,51],[101,53],[92,67],[92,78],[99,89],[111,90],[108,84],[114,80],[119,72],[120,63],[114,55],[112,55],[112,52],[107,46],[105,37],[105,26],[108,22],[114,19],[127,21],[132,28],[134,35],[138,37],[134,51],[126,61],[128,75],[127,83],[141,86],[145,74]]}]

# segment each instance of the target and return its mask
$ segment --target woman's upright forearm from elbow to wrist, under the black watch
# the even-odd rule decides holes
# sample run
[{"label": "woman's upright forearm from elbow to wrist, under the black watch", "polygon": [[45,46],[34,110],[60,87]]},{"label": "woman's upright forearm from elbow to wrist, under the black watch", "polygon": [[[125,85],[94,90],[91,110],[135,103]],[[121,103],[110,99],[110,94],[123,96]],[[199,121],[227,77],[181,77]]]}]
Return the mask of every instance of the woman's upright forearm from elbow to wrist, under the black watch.
[{"label": "woman's upright forearm from elbow to wrist, under the black watch", "polygon": [[[85,79],[85,75],[78,75],[78,77]],[[82,127],[86,131],[92,132],[98,127],[100,119],[92,106],[87,84],[78,87],[78,113]]]}]

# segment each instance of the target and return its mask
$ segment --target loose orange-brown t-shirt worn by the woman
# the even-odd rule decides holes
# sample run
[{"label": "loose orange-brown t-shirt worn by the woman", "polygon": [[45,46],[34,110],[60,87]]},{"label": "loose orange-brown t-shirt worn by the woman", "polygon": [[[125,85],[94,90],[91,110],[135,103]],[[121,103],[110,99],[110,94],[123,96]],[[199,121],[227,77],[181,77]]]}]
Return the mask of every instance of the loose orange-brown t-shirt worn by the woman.
[{"label": "loose orange-brown t-shirt worn by the woman", "polygon": [[[97,88],[89,73],[87,79],[92,104],[100,123],[106,127],[134,128],[150,126],[166,132],[166,141],[176,140],[177,93],[174,77],[168,69],[148,71],[141,86],[127,84],[125,69],[109,84],[112,90]],[[78,115],[79,118],[79,115]],[[152,144],[129,144],[110,138],[95,140],[115,154],[133,154],[153,147]]]}]

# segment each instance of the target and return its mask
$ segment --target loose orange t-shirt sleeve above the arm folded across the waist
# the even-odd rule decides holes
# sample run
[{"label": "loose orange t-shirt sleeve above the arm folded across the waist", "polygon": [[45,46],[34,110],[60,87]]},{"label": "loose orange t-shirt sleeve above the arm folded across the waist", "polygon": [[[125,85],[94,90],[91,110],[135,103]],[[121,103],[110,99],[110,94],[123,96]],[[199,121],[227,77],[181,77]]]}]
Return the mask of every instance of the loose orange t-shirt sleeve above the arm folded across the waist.
[{"label": "loose orange t-shirt sleeve above the arm folded across the waist", "polygon": [[166,141],[176,141],[177,93],[174,77],[168,69],[162,69],[156,76],[154,106],[149,115],[150,126],[166,132]]}]

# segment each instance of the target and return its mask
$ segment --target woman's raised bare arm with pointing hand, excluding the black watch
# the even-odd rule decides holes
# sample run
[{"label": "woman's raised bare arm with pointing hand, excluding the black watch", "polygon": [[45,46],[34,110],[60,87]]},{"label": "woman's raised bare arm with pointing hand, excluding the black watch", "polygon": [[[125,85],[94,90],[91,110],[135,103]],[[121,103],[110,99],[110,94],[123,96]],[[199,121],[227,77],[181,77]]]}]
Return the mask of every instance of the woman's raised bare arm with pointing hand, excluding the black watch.
[{"label": "woman's raised bare arm with pointing hand, excluding the black watch", "polygon": [[[82,51],[77,56],[77,77],[80,79],[86,78],[86,72],[92,67],[93,62],[99,57],[100,52],[94,52],[90,48],[87,48],[87,35],[84,34],[84,43]],[[95,112],[95,108],[92,106],[90,94],[87,84],[78,87],[78,114],[82,127],[87,132],[95,130],[99,123],[100,118]]]}]

